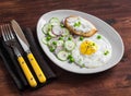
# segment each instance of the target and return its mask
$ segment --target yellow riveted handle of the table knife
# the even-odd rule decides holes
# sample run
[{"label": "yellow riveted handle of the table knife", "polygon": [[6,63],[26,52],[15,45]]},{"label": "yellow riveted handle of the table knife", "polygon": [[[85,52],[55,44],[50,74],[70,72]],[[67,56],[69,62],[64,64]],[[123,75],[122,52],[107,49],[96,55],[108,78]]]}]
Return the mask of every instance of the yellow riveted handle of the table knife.
[{"label": "yellow riveted handle of the table knife", "polygon": [[29,60],[29,62],[31,62],[34,71],[35,71],[35,73],[36,73],[36,75],[37,75],[37,77],[38,77],[38,81],[39,81],[40,83],[45,83],[45,82],[46,82],[46,76],[45,76],[45,74],[43,73],[41,69],[39,68],[36,59],[35,59],[34,56],[33,56],[33,53],[32,53],[32,52],[27,53],[27,58],[28,58],[28,60]]}]

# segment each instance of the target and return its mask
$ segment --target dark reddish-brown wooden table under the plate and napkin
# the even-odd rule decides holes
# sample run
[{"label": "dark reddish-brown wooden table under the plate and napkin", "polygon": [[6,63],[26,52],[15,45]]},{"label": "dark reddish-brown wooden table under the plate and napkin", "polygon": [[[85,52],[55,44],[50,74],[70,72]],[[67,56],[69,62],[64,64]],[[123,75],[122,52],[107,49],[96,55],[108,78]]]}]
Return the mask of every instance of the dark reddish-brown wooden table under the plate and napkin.
[{"label": "dark reddish-brown wooden table under the plate and napkin", "polygon": [[19,92],[0,59],[0,96],[131,96],[131,0],[0,0],[0,24],[15,19],[35,29],[44,13],[58,9],[83,11],[109,22],[123,39],[122,60],[108,71],[91,75],[70,73],[49,63],[58,75],[56,81],[37,91]]}]

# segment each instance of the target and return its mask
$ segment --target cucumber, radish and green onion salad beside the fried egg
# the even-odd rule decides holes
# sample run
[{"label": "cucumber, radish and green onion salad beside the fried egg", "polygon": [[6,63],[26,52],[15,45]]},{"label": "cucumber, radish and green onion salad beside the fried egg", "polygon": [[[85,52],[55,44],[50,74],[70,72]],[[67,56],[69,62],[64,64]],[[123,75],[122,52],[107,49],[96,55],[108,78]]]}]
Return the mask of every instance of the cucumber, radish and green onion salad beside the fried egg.
[{"label": "cucumber, radish and green onion salad beside the fried egg", "polygon": [[[49,50],[61,61],[74,62],[72,50],[75,47],[73,36],[57,17],[49,20],[41,28],[45,37],[41,39]],[[82,37],[81,37],[82,39]]]}]

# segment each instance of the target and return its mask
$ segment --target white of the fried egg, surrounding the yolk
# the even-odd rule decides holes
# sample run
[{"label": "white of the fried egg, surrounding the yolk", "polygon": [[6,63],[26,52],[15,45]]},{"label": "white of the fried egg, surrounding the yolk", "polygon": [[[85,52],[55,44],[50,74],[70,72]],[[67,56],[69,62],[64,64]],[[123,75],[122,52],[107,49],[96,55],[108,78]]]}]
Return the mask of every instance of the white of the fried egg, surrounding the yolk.
[{"label": "white of the fried egg, surrounding the yolk", "polygon": [[[100,65],[104,65],[108,62],[108,60],[111,57],[111,45],[108,41],[108,39],[106,37],[104,37],[103,35],[100,39],[97,38],[97,36],[100,34],[95,34],[92,37],[84,37],[84,40],[92,40],[94,41],[97,46],[98,46],[98,50],[93,53],[93,55],[82,55],[80,52],[80,45],[82,44],[82,41],[78,38],[75,38],[76,41],[76,46],[75,48],[72,50],[72,57],[74,58],[74,62],[76,65],[80,67],[84,67],[84,68],[97,68]],[[109,53],[107,56],[104,55],[104,51],[108,50]]]}]

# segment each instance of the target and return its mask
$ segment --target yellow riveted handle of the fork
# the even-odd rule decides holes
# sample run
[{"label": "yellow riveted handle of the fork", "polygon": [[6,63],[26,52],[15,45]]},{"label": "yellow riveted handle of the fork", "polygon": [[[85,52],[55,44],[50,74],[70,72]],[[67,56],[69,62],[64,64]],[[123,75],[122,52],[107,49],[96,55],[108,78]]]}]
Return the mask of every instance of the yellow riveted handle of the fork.
[{"label": "yellow riveted handle of the fork", "polygon": [[33,74],[31,73],[26,62],[24,61],[23,57],[17,57],[17,61],[20,62],[20,65],[25,74],[25,77],[27,79],[27,82],[29,83],[29,85],[32,87],[37,86],[37,83],[33,76]]}]

